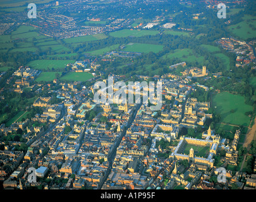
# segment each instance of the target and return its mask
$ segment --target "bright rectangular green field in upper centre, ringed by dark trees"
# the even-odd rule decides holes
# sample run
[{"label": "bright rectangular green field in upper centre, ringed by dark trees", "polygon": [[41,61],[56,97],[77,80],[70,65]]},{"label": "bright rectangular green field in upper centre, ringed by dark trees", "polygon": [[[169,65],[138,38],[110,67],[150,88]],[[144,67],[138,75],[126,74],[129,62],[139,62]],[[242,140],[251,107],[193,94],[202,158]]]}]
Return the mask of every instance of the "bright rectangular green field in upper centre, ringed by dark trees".
[{"label": "bright rectangular green field in upper centre, ringed by dark trees", "polygon": [[130,43],[125,45],[123,51],[128,52],[159,52],[163,49],[163,45],[155,44],[140,44],[140,43]]}]

